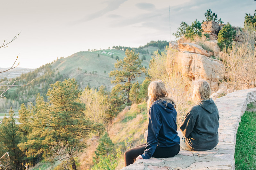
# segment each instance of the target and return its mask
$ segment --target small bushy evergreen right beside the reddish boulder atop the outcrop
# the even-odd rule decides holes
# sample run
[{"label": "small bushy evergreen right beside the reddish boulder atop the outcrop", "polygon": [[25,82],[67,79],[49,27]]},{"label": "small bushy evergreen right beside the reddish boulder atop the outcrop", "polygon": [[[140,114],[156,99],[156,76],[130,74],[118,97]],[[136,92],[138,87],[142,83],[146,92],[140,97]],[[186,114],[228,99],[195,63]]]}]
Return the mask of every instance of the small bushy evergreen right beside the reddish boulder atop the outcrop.
[{"label": "small bushy evergreen right beside the reddish boulder atop the outcrop", "polygon": [[224,46],[228,47],[235,38],[236,31],[231,27],[229,23],[223,26],[218,34],[218,45],[223,50]]}]

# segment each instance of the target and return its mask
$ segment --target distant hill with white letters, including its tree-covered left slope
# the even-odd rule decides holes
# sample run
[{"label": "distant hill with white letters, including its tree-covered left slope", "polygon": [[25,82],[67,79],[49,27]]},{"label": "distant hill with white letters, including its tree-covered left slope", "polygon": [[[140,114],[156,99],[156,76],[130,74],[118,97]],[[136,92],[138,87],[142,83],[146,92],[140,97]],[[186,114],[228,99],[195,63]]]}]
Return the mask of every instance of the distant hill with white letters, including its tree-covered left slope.
[{"label": "distant hill with white letters, including its tree-covered left slope", "polygon": [[[142,65],[149,68],[149,61],[153,51],[163,51],[164,48],[148,46],[142,48],[143,54],[140,53],[139,58],[143,59]],[[37,93],[46,100],[46,93],[51,84],[56,81],[63,81],[68,78],[75,78],[79,88],[84,89],[87,85],[89,87],[99,88],[101,85],[110,91],[113,84],[109,73],[114,70],[114,63],[117,59],[123,59],[125,51],[123,49],[106,49],[94,51],[80,51],[68,57],[61,57],[54,60],[52,63],[45,64],[33,72],[22,74],[15,83],[15,85],[24,85],[28,82],[33,82],[23,87],[12,87],[5,93],[5,97],[9,100],[14,100],[27,104],[32,102],[35,104]],[[142,83],[145,75],[139,77],[136,81]],[[0,84],[11,84],[14,79],[1,79]]]}]

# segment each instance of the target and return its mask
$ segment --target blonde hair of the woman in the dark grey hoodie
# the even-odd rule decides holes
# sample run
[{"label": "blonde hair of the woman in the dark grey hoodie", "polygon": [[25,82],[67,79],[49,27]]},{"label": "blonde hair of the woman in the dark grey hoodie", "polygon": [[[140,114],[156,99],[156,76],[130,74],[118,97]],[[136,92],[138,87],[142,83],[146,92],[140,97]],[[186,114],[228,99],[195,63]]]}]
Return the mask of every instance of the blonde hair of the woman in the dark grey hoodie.
[{"label": "blonde hair of the woman in the dark grey hoodie", "polygon": [[197,80],[194,82],[193,101],[208,100],[211,95],[211,88],[207,81]]}]

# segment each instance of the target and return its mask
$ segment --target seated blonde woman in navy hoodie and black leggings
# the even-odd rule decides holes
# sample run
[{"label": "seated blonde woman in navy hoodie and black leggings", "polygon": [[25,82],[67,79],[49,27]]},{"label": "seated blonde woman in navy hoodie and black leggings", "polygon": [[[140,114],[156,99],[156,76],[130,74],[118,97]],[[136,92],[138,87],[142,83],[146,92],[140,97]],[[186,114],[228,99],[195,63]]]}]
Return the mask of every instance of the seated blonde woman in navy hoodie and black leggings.
[{"label": "seated blonde woman in navy hoodie and black leggings", "polygon": [[124,153],[125,166],[137,159],[168,158],[179,153],[175,103],[161,80],[148,86],[148,135],[147,143],[138,145]]}]

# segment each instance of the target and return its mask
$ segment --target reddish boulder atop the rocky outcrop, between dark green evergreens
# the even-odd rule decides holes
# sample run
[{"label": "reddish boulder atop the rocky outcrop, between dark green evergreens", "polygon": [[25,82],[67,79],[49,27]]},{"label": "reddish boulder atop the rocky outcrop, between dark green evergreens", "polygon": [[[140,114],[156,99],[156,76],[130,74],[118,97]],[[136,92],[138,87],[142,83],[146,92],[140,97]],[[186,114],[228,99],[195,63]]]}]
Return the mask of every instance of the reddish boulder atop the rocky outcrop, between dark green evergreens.
[{"label": "reddish boulder atop the rocky outcrop, between dark green evergreens", "polygon": [[204,21],[201,25],[203,33],[210,35],[210,40],[217,40],[219,33],[219,24],[215,21]]}]

